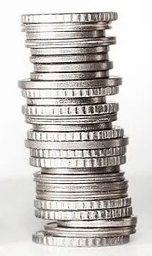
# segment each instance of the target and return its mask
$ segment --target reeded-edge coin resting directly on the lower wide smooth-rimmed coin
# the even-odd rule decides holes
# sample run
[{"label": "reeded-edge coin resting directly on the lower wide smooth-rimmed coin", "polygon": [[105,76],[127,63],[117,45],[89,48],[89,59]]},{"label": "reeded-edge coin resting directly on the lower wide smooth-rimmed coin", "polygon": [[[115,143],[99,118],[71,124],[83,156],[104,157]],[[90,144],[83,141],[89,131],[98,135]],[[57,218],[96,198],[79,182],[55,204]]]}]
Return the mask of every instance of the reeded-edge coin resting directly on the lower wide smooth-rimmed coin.
[{"label": "reeded-edge coin resting directly on the lower wide smooth-rimmed coin", "polygon": [[89,130],[77,132],[41,132],[28,130],[28,140],[46,141],[84,141],[84,140],[107,140],[123,137],[124,131],[119,126],[113,126],[111,130]]}]

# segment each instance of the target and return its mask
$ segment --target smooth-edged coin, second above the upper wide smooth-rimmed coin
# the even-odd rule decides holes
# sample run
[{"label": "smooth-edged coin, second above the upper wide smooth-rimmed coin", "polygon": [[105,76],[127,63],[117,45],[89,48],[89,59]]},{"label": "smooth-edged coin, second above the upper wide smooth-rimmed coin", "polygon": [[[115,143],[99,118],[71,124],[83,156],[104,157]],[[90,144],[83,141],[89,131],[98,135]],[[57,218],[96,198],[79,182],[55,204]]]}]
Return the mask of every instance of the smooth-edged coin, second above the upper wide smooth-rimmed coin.
[{"label": "smooth-edged coin, second above the upper wide smooth-rimmed coin", "polygon": [[80,62],[76,64],[34,64],[35,72],[80,72],[107,71],[113,68],[112,61]]}]

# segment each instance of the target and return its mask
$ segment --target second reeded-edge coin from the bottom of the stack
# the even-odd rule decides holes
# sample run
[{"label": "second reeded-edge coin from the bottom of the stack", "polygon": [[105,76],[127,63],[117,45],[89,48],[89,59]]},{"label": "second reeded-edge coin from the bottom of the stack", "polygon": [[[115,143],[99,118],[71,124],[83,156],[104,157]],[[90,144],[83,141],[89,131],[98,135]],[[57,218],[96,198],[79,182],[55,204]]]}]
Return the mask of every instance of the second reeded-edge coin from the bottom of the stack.
[{"label": "second reeded-edge coin from the bottom of the stack", "polygon": [[45,220],[105,220],[123,218],[132,215],[132,207],[115,209],[95,209],[81,211],[53,211],[35,209],[35,216]]}]

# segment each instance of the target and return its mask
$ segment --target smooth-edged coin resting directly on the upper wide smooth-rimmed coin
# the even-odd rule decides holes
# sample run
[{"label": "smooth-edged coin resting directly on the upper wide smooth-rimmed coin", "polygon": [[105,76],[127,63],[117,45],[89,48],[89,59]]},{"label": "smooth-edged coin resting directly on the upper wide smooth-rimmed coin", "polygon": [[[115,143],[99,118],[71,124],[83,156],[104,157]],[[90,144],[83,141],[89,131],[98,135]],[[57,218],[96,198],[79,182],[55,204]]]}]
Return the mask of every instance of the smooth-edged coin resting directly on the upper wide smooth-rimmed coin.
[{"label": "smooth-edged coin resting directly on the upper wide smooth-rimmed coin", "polygon": [[30,73],[30,78],[35,81],[49,81],[49,80],[85,80],[95,78],[107,78],[109,71],[87,71],[87,72],[52,72],[52,73]]}]

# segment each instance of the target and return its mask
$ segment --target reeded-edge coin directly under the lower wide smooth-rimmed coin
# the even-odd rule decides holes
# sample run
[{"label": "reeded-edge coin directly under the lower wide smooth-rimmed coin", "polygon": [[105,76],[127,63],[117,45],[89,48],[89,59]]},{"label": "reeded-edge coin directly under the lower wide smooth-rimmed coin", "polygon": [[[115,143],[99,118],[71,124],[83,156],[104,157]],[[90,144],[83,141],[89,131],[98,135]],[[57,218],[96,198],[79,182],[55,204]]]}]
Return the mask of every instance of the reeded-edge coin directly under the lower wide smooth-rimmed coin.
[{"label": "reeded-edge coin directly under the lower wide smooth-rimmed coin", "polygon": [[87,158],[87,157],[112,157],[126,154],[127,148],[110,147],[103,149],[89,150],[48,150],[48,149],[31,149],[31,157],[42,158]]}]

